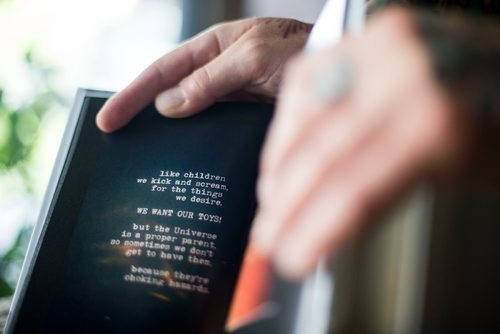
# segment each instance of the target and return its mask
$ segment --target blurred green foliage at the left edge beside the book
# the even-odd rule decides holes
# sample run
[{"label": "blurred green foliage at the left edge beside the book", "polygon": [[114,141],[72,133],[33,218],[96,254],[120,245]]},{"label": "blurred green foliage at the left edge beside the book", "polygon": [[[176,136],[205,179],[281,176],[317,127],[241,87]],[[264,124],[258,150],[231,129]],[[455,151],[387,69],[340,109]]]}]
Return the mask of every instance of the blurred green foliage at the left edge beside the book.
[{"label": "blurred green foliage at the left edge beside the book", "polygon": [[[30,156],[36,146],[41,121],[54,106],[66,103],[53,89],[54,70],[40,61],[34,50],[28,50],[21,61],[32,76],[30,91],[36,93],[24,105],[13,107],[6,102],[6,90],[0,87],[0,173],[16,172],[22,178],[24,191],[32,193],[34,180]],[[0,255],[0,297],[13,293],[30,230],[23,228],[12,247]]]}]

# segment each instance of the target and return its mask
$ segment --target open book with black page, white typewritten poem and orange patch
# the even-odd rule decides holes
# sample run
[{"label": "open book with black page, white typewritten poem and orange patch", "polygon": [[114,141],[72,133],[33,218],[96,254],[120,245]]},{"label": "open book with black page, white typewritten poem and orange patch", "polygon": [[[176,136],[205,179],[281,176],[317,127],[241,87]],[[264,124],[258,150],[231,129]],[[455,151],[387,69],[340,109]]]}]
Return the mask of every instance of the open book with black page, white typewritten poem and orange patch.
[{"label": "open book with black page, white typewritten poem and orange patch", "polygon": [[150,106],[106,134],[95,116],[109,96],[78,91],[6,333],[223,333],[272,314],[255,311],[258,260],[229,316],[273,106],[185,119]]}]

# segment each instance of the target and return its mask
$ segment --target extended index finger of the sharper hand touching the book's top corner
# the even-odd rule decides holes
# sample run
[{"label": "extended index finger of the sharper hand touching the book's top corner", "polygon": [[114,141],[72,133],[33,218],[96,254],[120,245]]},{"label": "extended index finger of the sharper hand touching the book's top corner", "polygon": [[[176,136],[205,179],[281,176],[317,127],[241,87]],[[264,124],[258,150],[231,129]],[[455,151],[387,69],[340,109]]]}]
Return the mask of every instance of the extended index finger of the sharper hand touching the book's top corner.
[{"label": "extended index finger of the sharper hand touching the book's top corner", "polygon": [[232,43],[248,22],[221,25],[202,33],[150,65],[121,92],[110,98],[97,115],[97,125],[112,132],[127,124],[162,91],[176,85]]}]

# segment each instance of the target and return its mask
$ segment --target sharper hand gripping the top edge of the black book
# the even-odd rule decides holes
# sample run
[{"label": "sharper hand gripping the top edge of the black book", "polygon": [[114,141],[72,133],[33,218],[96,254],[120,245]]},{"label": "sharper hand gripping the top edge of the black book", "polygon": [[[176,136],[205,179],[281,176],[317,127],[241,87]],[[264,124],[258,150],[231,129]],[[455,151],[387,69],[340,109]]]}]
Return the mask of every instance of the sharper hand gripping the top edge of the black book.
[{"label": "sharper hand gripping the top edge of the black book", "polygon": [[149,66],[97,115],[111,132],[155,100],[169,117],[192,115],[217,100],[276,96],[285,62],[300,51],[312,25],[253,18],[214,26]]}]

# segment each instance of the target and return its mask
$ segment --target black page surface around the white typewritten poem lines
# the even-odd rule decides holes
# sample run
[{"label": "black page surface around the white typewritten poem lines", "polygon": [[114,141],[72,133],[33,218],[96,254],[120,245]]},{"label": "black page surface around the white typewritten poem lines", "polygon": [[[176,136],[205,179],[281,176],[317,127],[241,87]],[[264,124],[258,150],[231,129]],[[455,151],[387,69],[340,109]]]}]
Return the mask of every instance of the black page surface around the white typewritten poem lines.
[{"label": "black page surface around the white typewritten poem lines", "polygon": [[[46,217],[48,228],[17,305],[13,332],[222,332],[255,209],[258,156],[272,106],[224,103],[182,120],[163,118],[150,107],[123,130],[106,135],[94,125],[104,99],[86,102],[82,128],[76,131],[79,140],[72,145]],[[137,207],[181,208],[173,199],[155,197],[147,186],[135,183],[162,169],[227,177],[230,191],[224,207],[203,207],[203,212],[222,215],[225,223],[199,227],[138,217]],[[183,203],[182,209],[199,212],[199,205]],[[159,259],[124,258],[108,246],[110,238],[130,225],[130,217],[138,224],[182,223],[184,228],[198,226],[217,233],[214,266],[199,272],[210,277],[211,293],[123,282],[131,264],[160,266],[155,262]],[[158,294],[165,298],[155,297]]]}]

